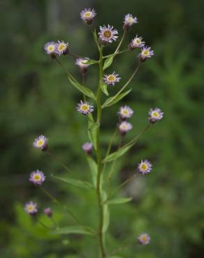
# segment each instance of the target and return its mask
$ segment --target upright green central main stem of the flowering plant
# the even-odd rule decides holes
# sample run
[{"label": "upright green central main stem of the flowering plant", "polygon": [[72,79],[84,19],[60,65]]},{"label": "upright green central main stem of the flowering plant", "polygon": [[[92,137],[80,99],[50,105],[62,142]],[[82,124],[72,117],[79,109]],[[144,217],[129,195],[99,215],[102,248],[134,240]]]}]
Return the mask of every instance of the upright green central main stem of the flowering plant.
[{"label": "upright green central main stem of the flowering plant", "polygon": [[101,123],[101,80],[103,77],[103,47],[100,47],[99,59],[99,88],[96,95],[97,104],[97,123],[99,126],[96,132],[96,155],[97,155],[97,179],[96,179],[96,193],[99,206],[99,245],[101,258],[105,257],[105,247],[103,243],[103,204],[101,200],[101,144],[100,144],[100,123]]}]

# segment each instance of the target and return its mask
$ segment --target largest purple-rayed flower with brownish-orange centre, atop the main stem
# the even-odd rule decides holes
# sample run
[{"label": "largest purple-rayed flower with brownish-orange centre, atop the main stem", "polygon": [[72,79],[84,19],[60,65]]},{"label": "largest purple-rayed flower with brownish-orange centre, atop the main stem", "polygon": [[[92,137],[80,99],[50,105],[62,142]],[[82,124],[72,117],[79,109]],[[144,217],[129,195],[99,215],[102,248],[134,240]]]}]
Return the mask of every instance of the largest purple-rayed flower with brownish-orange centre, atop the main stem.
[{"label": "largest purple-rayed flower with brownish-orange centre, atop the main stem", "polygon": [[118,36],[117,29],[113,29],[113,26],[100,26],[99,39],[102,45],[107,43],[112,43],[112,41],[117,40]]}]

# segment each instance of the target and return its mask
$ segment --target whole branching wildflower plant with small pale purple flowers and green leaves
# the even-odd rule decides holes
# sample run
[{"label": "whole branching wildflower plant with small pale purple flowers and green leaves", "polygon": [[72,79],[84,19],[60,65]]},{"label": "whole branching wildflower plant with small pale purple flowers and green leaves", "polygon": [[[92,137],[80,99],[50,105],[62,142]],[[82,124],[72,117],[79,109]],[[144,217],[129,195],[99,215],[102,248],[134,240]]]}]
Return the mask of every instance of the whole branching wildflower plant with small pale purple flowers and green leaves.
[{"label": "whole branching wildflower plant with small pale purple flowers and green leaves", "polygon": [[[42,207],[45,215],[47,215],[52,221],[54,221],[54,228],[50,229],[52,233],[55,234],[89,234],[96,238],[96,243],[99,246],[99,257],[110,257],[112,254],[112,250],[107,250],[105,245],[106,242],[106,234],[108,232],[108,226],[110,221],[110,209],[109,206],[111,204],[123,204],[125,202],[130,202],[131,198],[119,198],[117,197],[117,192],[124,187],[129,181],[131,181],[136,173],[140,173],[141,176],[145,176],[146,174],[150,174],[152,172],[152,162],[147,160],[147,157],[143,157],[143,160],[139,162],[136,160],[136,168],[135,173],[126,181],[122,182],[121,185],[118,185],[116,188],[112,187],[112,174],[114,169],[109,169],[107,166],[108,163],[112,163],[115,165],[115,162],[118,158],[121,158],[122,155],[127,153],[137,142],[138,139],[145,133],[147,129],[153,126],[156,121],[159,121],[163,118],[163,112],[158,107],[152,108],[150,107],[149,117],[148,110],[147,116],[144,118],[147,121],[147,125],[145,128],[138,134],[133,137],[129,142],[126,141],[126,134],[129,133],[130,130],[133,132],[133,125],[129,122],[129,119],[134,114],[133,109],[131,107],[124,105],[119,107],[119,111],[115,114],[115,119],[118,120],[115,123],[115,128],[113,128],[112,138],[107,146],[105,151],[105,155],[102,155],[103,149],[101,146],[101,116],[108,115],[107,109],[116,103],[119,103],[120,100],[124,99],[129,93],[131,93],[131,89],[127,89],[129,84],[131,84],[133,77],[138,72],[140,66],[147,60],[150,59],[154,52],[150,47],[145,46],[145,41],[143,38],[136,34],[136,37],[131,40],[131,43],[126,46],[126,48],[120,51],[122,47],[122,43],[129,29],[133,29],[133,26],[138,23],[137,17],[134,17],[132,14],[127,14],[124,17],[123,24],[123,35],[117,44],[115,52],[112,54],[104,54],[105,48],[108,44],[113,44],[119,38],[119,32],[114,26],[99,26],[99,28],[94,28],[94,19],[96,18],[96,11],[92,8],[86,8],[82,10],[80,13],[80,18],[85,23],[85,26],[89,26],[90,32],[92,33],[94,42],[96,43],[96,47],[99,51],[99,58],[89,59],[88,57],[77,56],[72,54],[72,46],[68,43],[65,43],[64,40],[58,40],[57,43],[50,41],[45,43],[44,49],[45,54],[50,55],[53,61],[63,68],[66,75],[68,76],[69,82],[80,91],[82,98],[75,105],[76,112],[85,115],[85,119],[87,119],[87,142],[82,144],[82,151],[86,153],[87,157],[87,165],[89,165],[90,169],[90,178],[89,182],[76,180],[74,178],[64,179],[60,176],[53,176],[54,179],[59,181],[66,181],[67,183],[71,183],[72,185],[79,186],[82,188],[90,188],[96,193],[96,209],[98,209],[98,227],[92,227],[92,221],[90,221],[90,225],[83,225],[78,218],[78,215],[75,215],[73,211],[70,211],[66,208],[66,212],[75,220],[76,225],[65,225],[66,227],[58,227],[57,222],[54,221],[54,211],[51,208]],[[105,70],[108,69],[113,61],[117,59],[119,54],[124,54],[125,52],[131,52],[133,59],[136,61],[136,67],[133,70],[133,73],[129,79],[126,80],[123,86],[120,86],[120,77],[117,73],[105,73]],[[76,79],[64,65],[61,63],[60,59],[64,58],[65,55],[75,56],[75,65],[80,68],[80,73],[82,77],[82,84]],[[74,64],[74,63],[73,63]],[[87,73],[87,69],[90,69],[91,66],[99,67],[99,83],[95,87],[94,91],[89,89],[89,87],[85,84],[85,74]],[[125,75],[121,75],[125,77]],[[109,96],[109,86],[114,86],[117,88],[117,93],[115,96]],[[103,101],[105,99],[105,101]],[[121,139],[119,142],[118,149],[116,151],[112,151],[112,142],[115,139],[116,135],[119,135]],[[88,139],[89,138],[89,139]],[[52,139],[49,139],[52,142]],[[56,158],[48,147],[48,139],[41,135],[36,137],[34,140],[34,147],[45,153],[48,153],[53,158]],[[70,169],[66,165],[64,165],[61,160],[59,163],[67,169],[68,172],[71,172]],[[45,190],[44,185],[46,185],[46,180],[48,175],[46,173],[36,170],[31,172],[29,181],[34,183],[34,185],[38,185],[39,188],[42,188],[48,197],[52,199],[52,201],[56,202],[64,208],[64,204],[61,204],[56,197],[52,196],[52,193]],[[87,209],[88,209],[87,204]],[[37,204],[33,202],[28,202],[24,209],[27,213],[34,215],[35,218],[38,213]],[[39,209],[40,211],[40,209]],[[37,220],[38,221],[38,220]],[[41,223],[41,225],[43,225]],[[46,227],[47,228],[47,227]],[[136,237],[135,237],[136,238]],[[138,232],[138,243],[140,245],[147,245],[150,243],[150,236],[145,233],[141,234]],[[97,246],[96,245],[96,246]],[[115,252],[114,252],[115,253]]]}]

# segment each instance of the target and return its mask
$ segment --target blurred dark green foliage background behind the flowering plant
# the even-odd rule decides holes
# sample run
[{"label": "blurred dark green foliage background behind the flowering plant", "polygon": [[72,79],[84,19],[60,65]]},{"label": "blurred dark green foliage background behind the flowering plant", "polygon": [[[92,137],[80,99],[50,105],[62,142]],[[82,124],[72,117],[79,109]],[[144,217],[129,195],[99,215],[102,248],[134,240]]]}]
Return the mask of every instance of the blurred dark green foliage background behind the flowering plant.
[{"label": "blurred dark green foliage background behind the flowering plant", "polygon": [[[29,173],[41,169],[47,176],[45,188],[92,225],[97,223],[96,199],[92,191],[53,181],[50,174],[68,176],[63,167],[32,147],[34,137],[43,134],[52,153],[74,172],[76,179],[89,180],[89,167],[81,145],[88,141],[87,122],[75,112],[82,98],[68,82],[64,71],[43,52],[49,40],[64,39],[80,56],[96,59],[98,54],[88,26],[80,21],[85,7],[98,13],[96,28],[112,24],[122,33],[122,20],[133,13],[139,23],[129,31],[122,49],[138,35],[155,52],[131,82],[130,96],[105,110],[102,119],[102,146],[110,141],[117,123],[119,105],[134,109],[131,139],[147,123],[150,107],[165,113],[163,121],[147,131],[138,144],[117,161],[114,184],[136,172],[136,164],[149,158],[154,164],[148,176],[137,176],[119,194],[132,196],[130,204],[111,206],[108,250],[129,247],[121,257],[201,258],[204,252],[204,159],[203,159],[203,1],[1,1],[1,211],[0,256],[2,258],[96,257],[97,246],[89,236],[57,236],[24,213],[24,203],[38,202],[39,218],[45,206],[54,210],[59,225],[73,220],[28,181]],[[107,54],[117,43],[106,48]],[[122,77],[114,94],[136,66],[137,52],[117,56],[112,67]],[[78,78],[71,56],[64,65]],[[91,66],[87,85],[96,89],[98,70]],[[105,97],[104,97],[105,98]],[[117,146],[117,139],[114,142]],[[152,241],[136,244],[138,234],[148,232]],[[80,253],[80,254],[79,254]]]}]

